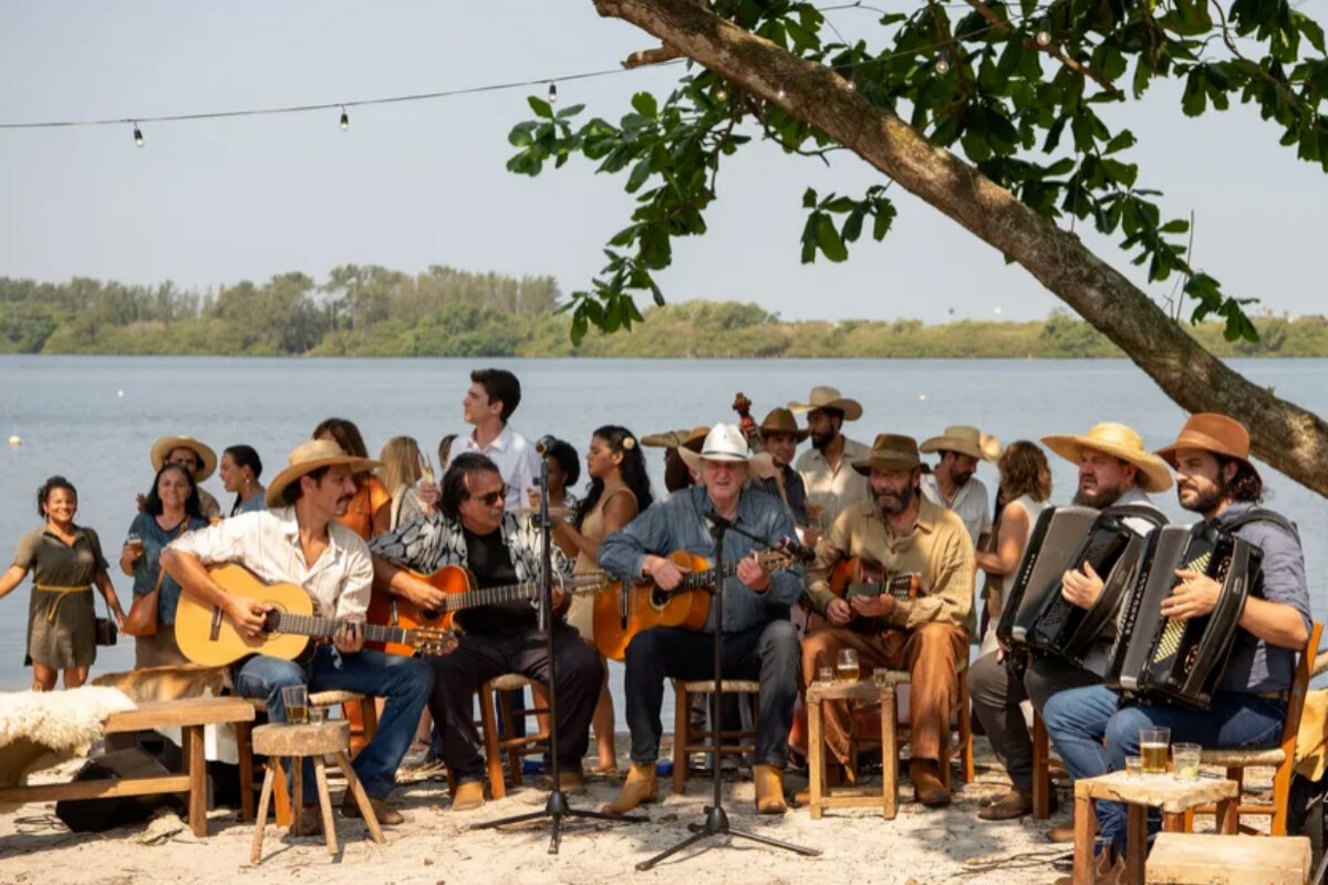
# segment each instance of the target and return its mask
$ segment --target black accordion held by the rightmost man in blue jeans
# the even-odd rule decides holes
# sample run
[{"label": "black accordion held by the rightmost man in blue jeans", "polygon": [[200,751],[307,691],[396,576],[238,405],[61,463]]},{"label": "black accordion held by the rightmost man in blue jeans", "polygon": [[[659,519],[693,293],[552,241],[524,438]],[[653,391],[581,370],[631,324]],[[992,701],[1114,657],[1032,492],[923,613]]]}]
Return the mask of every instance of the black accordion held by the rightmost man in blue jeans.
[{"label": "black accordion held by the rightmost man in blue jeans", "polygon": [[[1147,701],[1208,709],[1263,561],[1258,547],[1231,532],[1231,527],[1198,523],[1169,525],[1149,537],[1139,579],[1121,610],[1109,686]],[[1222,586],[1210,614],[1162,617],[1162,602],[1181,582],[1177,569],[1201,572]]]}]

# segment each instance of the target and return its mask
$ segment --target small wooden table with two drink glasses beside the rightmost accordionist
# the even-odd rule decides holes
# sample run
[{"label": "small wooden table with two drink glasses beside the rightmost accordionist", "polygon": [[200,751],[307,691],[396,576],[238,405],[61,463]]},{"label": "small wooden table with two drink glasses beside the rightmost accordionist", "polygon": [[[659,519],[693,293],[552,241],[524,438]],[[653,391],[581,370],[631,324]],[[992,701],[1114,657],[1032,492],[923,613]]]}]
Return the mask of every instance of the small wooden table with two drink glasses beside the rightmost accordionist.
[{"label": "small wooden table with two drink glasses beside the rightmost accordionist", "polygon": [[1120,801],[1126,808],[1125,881],[1143,885],[1143,858],[1147,854],[1147,809],[1162,812],[1163,828],[1181,831],[1185,812],[1215,803],[1218,827],[1236,832],[1236,805],[1240,787],[1216,778],[1182,779],[1175,775],[1130,775],[1113,771],[1101,778],[1074,782],[1074,885],[1093,882],[1093,836],[1097,831],[1094,801]]}]

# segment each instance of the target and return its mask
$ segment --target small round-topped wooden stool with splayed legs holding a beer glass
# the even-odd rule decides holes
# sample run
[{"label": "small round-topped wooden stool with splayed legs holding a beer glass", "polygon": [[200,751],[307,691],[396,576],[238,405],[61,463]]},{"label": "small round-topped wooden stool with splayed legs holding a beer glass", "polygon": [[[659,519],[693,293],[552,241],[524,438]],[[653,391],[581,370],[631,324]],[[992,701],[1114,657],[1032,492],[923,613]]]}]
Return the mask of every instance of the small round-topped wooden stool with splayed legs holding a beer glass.
[{"label": "small round-topped wooden stool with splayed legs holding a beer glass", "polygon": [[[291,760],[291,780],[293,782],[293,800],[296,808],[303,801],[301,771],[305,756],[313,758],[313,776],[319,785],[319,807],[323,809],[323,833],[327,836],[328,853],[337,853],[336,825],[332,820],[332,799],[328,796],[327,772],[323,768],[324,756],[336,759],[337,767],[345,776],[347,789],[355,796],[355,803],[360,807],[364,823],[369,827],[369,837],[376,843],[382,843],[382,831],[378,828],[378,819],[373,816],[373,805],[360,785],[360,779],[351,767],[347,751],[351,747],[351,726],[347,722],[324,722],[316,726],[287,726],[266,724],[254,728],[254,752],[268,756],[267,775],[263,778],[263,792],[258,799],[258,820],[254,825],[254,845],[250,848],[250,864],[255,866],[263,858],[263,831],[267,829],[267,804],[272,797],[272,785],[276,782],[276,772],[282,768],[282,759]],[[295,820],[299,815],[292,816]]]}]

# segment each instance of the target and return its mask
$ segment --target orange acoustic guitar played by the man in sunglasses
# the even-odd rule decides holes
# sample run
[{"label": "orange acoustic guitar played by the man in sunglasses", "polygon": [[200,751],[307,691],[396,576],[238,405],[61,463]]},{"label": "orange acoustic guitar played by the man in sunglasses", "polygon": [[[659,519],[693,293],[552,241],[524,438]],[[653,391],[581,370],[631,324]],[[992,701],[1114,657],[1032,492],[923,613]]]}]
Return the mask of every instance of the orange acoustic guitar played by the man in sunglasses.
[{"label": "orange acoustic guitar played by the man in sunglasses", "polygon": [[[444,600],[442,608],[422,610],[414,602],[400,596],[374,590],[369,598],[369,624],[380,624],[389,628],[450,630],[453,629],[453,616],[462,609],[473,609],[479,605],[498,605],[517,600],[534,600],[539,598],[539,594],[543,592],[543,585],[539,581],[523,581],[521,584],[479,589],[475,586],[475,576],[470,573],[470,569],[461,565],[444,565],[433,575],[421,575],[409,569],[406,572],[434,589],[442,590],[448,597]],[[608,576],[603,572],[594,572],[564,577],[558,586],[572,594],[583,594],[608,590],[616,585],[608,582]],[[367,645],[393,654],[413,654],[408,646],[393,642],[368,642]]]}]

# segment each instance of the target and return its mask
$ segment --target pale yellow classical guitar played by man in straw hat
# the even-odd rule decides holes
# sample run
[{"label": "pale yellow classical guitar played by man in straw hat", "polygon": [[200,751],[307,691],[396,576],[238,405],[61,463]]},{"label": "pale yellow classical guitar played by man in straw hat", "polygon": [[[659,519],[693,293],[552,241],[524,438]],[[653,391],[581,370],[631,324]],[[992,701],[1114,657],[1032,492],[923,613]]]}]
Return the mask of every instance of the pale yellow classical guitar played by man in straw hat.
[{"label": "pale yellow classical guitar played by man in straw hat", "polygon": [[[220,565],[210,569],[212,580],[227,592],[271,606],[262,636],[242,636],[235,625],[223,617],[220,608],[206,605],[189,593],[179,597],[175,610],[175,642],[181,653],[203,666],[232,663],[250,654],[267,654],[293,661],[300,657],[309,640],[329,640],[343,621],[317,617],[313,598],[296,584],[264,584],[243,565]],[[454,644],[446,630],[400,629],[368,624],[364,626],[367,642],[386,642],[418,651],[445,653]]]}]

